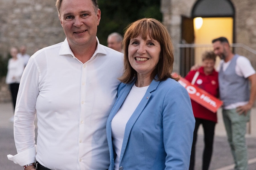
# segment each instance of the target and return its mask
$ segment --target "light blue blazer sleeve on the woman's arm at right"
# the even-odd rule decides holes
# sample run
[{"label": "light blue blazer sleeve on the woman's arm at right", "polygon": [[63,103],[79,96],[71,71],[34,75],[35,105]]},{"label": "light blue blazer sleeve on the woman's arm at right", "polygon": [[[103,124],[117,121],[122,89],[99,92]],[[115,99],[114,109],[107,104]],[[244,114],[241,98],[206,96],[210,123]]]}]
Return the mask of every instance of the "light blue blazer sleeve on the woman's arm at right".
[{"label": "light blue blazer sleeve on the woman's arm at right", "polygon": [[166,170],[188,170],[195,118],[189,95],[180,84],[166,93],[163,102],[163,143]]}]

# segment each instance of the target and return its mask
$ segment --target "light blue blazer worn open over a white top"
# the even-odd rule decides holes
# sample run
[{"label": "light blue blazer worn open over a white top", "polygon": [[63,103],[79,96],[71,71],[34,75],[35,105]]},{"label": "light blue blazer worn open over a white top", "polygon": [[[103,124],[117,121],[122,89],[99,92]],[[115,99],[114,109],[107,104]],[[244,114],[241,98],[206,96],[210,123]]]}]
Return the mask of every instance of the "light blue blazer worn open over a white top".
[{"label": "light blue blazer worn open over a white top", "polygon": [[[111,121],[130,92],[121,83],[108,117],[109,170],[114,168]],[[173,79],[153,80],[128,120],[122,143],[120,170],[188,170],[195,118],[186,89]]]}]

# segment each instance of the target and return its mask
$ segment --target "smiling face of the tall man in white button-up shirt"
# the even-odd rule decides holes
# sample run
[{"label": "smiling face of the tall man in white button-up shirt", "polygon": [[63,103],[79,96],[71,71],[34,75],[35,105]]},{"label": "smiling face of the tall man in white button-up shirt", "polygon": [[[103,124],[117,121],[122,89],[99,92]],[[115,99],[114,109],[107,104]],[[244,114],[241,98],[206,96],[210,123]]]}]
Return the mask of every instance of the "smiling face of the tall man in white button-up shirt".
[{"label": "smiling face of the tall man in white button-up shirt", "polygon": [[70,47],[91,45],[96,41],[101,12],[91,0],[63,0],[59,19]]}]

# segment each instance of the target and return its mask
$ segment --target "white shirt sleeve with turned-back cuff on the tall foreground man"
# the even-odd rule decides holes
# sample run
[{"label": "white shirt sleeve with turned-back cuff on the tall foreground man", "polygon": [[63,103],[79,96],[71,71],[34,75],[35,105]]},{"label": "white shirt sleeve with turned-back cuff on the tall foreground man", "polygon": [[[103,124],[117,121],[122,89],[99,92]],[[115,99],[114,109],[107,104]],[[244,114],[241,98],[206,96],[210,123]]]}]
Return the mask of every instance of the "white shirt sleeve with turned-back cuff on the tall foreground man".
[{"label": "white shirt sleeve with turned-back cuff on the tall foreground man", "polygon": [[8,159],[21,166],[35,162],[35,116],[39,94],[40,70],[34,59],[30,59],[23,72],[17,96],[14,116],[14,139],[17,155]]}]

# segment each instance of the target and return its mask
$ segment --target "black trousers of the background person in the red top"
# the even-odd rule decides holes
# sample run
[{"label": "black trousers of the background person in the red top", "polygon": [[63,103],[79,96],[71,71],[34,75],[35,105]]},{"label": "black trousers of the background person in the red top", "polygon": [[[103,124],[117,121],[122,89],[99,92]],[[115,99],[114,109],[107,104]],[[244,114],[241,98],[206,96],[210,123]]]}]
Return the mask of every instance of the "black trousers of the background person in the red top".
[{"label": "black trousers of the background person in the red top", "polygon": [[195,145],[197,140],[197,133],[199,125],[203,125],[204,129],[204,153],[203,153],[203,165],[202,170],[208,170],[212,158],[213,140],[214,140],[214,130],[215,122],[195,118],[195,130],[193,134],[193,143],[191,148],[190,164],[189,170],[194,170],[195,167]]}]

